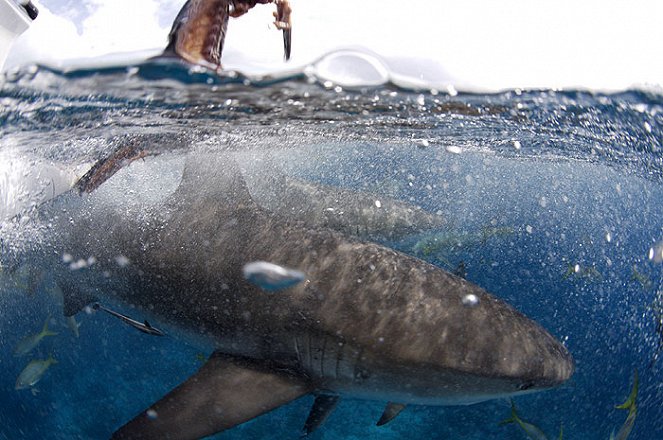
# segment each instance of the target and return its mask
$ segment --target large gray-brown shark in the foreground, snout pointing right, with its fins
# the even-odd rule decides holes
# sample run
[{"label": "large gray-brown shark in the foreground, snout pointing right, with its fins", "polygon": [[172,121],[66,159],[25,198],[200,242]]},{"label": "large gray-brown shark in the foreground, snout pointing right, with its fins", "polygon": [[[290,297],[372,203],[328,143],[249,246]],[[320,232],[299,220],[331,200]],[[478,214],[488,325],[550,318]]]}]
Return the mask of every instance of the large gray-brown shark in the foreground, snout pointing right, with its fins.
[{"label": "large gray-brown shark in the foreground, snout pointing right, with its fins", "polygon": [[[181,174],[176,163],[185,164]],[[113,297],[170,334],[215,347],[114,438],[200,438],[308,393],[318,397],[307,431],[339,396],[390,402],[383,424],[406,404],[471,404],[572,375],[562,344],[480,287],[269,211],[244,174],[229,153],[147,157],[90,194],[72,190],[42,209],[46,233],[23,258],[48,267],[67,315]],[[306,279],[264,291],[242,274],[253,261]]]}]

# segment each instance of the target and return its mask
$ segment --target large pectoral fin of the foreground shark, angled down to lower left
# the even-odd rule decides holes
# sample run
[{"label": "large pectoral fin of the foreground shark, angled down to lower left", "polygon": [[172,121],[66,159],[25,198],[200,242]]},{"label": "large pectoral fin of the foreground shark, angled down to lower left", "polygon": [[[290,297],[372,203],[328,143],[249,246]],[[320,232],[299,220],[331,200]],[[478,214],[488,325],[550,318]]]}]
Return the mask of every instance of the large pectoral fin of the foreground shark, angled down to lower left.
[{"label": "large pectoral fin of the foreground shark, angled down to lower left", "polygon": [[254,360],[215,352],[197,373],[113,434],[113,439],[198,439],[271,411],[312,387]]}]

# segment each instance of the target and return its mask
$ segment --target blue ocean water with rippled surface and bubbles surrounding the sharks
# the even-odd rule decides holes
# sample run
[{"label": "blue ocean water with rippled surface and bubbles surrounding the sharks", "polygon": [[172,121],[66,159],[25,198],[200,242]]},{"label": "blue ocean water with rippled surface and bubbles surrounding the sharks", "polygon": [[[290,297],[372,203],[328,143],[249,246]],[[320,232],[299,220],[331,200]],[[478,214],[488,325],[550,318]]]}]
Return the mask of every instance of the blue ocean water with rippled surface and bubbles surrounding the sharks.
[{"label": "blue ocean water with rippled surface and bubbles surrounding the sharks", "polygon": [[[348,89],[310,72],[248,79],[164,63],[8,74],[0,82],[0,438],[108,438],[209,354],[98,313],[77,315],[77,337],[53,286],[29,264],[8,265],[13,250],[38,240],[31,213],[126,144],[165,157],[203,146],[246,163],[269,158],[292,178],[439,216],[438,226],[371,239],[462,272],[564,342],[575,375],[516,398],[523,419],[550,439],[560,425],[567,439],[608,439],[626,419],[615,405],[637,369],[629,438],[663,438],[662,143],[663,95],[645,90]],[[161,173],[155,197],[172,182]],[[58,334],[13,356],[46,320]],[[58,363],[35,392],[16,390],[27,363],[50,354]],[[312,401],[214,438],[298,438]],[[410,406],[376,427],[383,405],[342,400],[310,437],[527,438],[499,424],[510,415],[506,400]]]}]

